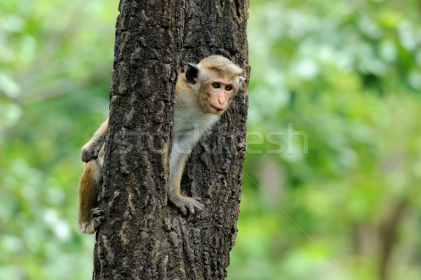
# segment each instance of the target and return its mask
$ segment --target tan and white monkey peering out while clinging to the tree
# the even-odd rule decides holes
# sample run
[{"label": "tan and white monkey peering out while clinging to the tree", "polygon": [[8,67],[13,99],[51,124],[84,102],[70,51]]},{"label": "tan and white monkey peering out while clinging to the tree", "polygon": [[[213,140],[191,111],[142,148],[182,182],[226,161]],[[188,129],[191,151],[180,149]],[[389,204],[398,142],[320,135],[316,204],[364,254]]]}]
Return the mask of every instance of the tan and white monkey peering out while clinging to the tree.
[{"label": "tan and white monkey peering out while clinging to the tree", "polygon": [[[178,75],[175,85],[173,146],[170,154],[168,201],[183,216],[196,220],[203,211],[200,199],[183,196],[180,182],[189,154],[200,138],[208,133],[232,102],[245,80],[243,70],[222,55],[211,55],[197,65],[188,63],[185,73]],[[97,207],[97,196],[102,185],[105,135],[108,119],[98,128],[81,149],[83,161],[79,180],[79,227],[81,232],[93,233],[105,219]]]}]

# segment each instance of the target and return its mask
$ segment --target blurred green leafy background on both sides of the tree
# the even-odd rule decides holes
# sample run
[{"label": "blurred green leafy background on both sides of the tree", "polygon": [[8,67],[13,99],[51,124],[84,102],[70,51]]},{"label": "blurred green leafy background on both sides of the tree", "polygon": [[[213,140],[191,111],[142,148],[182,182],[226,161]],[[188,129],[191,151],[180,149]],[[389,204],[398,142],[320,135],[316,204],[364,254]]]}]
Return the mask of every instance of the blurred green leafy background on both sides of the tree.
[{"label": "blurred green leafy background on both sides of the tree", "polygon": [[[91,279],[118,1],[0,2],[0,278]],[[421,279],[421,1],[251,0],[229,280]]]}]

